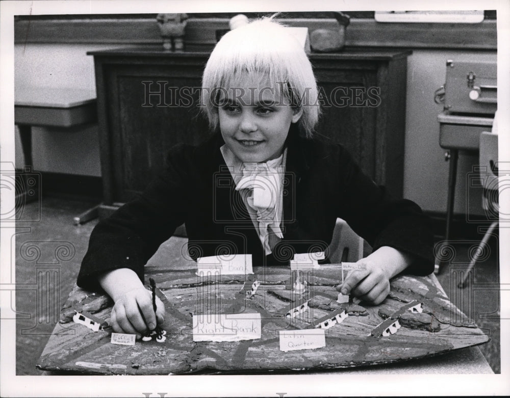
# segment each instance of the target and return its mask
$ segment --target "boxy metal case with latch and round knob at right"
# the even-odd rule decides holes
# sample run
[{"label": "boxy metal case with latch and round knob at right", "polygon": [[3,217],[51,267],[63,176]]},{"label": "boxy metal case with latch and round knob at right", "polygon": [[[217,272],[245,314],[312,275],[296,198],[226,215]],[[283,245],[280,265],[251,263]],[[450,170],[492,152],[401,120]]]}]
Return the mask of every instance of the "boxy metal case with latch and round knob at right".
[{"label": "boxy metal case with latch and round knob at right", "polygon": [[494,115],[497,64],[493,61],[446,61],[444,109],[455,114]]}]

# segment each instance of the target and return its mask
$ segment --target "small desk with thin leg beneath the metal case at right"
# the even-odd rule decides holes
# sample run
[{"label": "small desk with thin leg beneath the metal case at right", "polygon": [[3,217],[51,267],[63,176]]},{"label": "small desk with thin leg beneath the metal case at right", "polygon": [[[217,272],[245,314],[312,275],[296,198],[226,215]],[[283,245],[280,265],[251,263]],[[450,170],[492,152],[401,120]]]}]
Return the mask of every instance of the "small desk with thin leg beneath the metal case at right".
[{"label": "small desk with thin leg beneath the metal case at right", "polygon": [[458,116],[447,112],[438,115],[439,145],[448,149],[445,154],[449,160],[448,199],[446,206],[446,232],[445,240],[450,238],[451,220],[455,199],[455,183],[457,181],[458,152],[477,152],[480,146],[482,131],[492,130],[492,117]]}]

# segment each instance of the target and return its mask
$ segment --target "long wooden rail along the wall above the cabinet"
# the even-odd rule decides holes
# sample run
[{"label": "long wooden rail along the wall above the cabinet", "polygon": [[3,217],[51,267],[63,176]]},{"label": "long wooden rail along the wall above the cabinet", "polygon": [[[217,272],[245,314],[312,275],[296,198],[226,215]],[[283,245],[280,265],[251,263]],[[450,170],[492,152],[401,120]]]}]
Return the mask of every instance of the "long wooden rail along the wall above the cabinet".
[{"label": "long wooden rail along the wall above the cabinet", "polygon": [[[211,14],[214,15],[214,14]],[[80,19],[81,18],[81,19]],[[285,23],[315,29],[336,29],[333,18],[289,18]],[[210,48],[215,32],[228,29],[228,18],[190,18],[186,26],[188,49]],[[97,18],[16,20],[15,43],[161,44],[155,18]],[[380,23],[352,18],[346,30],[347,46],[401,48],[497,49],[495,19],[481,23]]]}]

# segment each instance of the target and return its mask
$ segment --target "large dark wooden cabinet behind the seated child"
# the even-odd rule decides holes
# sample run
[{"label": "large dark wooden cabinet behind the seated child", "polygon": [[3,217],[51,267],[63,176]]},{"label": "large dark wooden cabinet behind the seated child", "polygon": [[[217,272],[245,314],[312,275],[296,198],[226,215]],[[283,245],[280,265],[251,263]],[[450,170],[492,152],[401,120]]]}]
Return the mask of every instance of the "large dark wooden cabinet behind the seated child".
[{"label": "large dark wooden cabinet behind the seated child", "polygon": [[[146,187],[171,146],[198,143],[210,134],[198,107],[209,53],[145,46],[88,54],[95,63],[102,207],[108,211]],[[323,105],[317,135],[344,144],[362,169],[397,197],[402,196],[410,54],[351,48],[310,56]]]}]

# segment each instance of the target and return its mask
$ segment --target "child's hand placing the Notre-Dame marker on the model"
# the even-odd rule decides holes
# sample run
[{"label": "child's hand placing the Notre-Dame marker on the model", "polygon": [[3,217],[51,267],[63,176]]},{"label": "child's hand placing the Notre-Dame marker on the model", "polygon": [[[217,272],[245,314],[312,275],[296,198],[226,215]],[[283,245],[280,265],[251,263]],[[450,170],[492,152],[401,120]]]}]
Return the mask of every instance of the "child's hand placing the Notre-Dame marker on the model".
[{"label": "child's hand placing the Notre-Dame marker on the model", "polygon": [[411,256],[389,246],[377,249],[356,263],[361,270],[352,270],[337,290],[344,295],[353,294],[359,299],[377,305],[390,293],[390,279],[411,263]]}]

